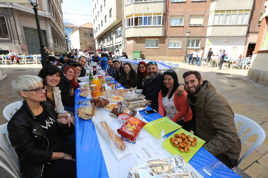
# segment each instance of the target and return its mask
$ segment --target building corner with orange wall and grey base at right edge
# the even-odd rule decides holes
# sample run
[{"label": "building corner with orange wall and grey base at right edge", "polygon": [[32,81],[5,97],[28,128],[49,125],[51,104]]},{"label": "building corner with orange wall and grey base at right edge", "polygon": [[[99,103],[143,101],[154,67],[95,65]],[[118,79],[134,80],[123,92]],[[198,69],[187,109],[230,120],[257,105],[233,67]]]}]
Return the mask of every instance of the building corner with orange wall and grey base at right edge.
[{"label": "building corner with orange wall and grey base at right edge", "polygon": [[258,84],[268,87],[268,9],[267,1],[264,2],[265,10],[261,17],[257,42],[253,51],[250,69],[247,77]]}]

